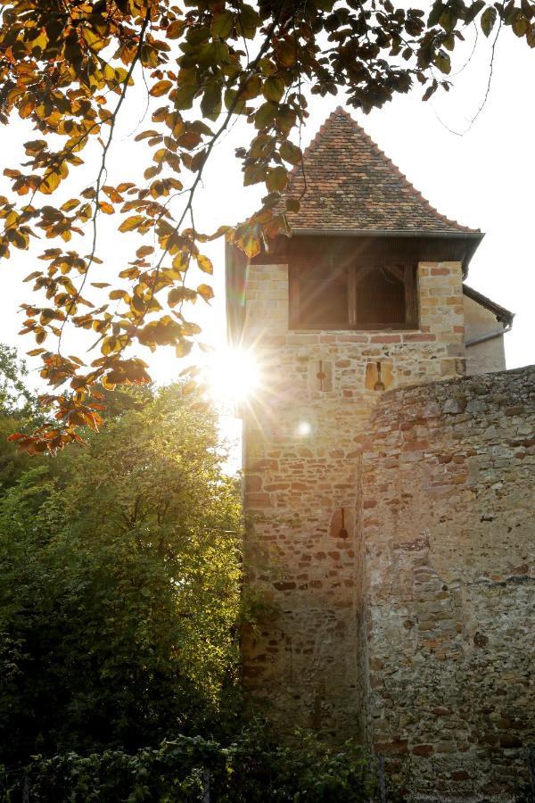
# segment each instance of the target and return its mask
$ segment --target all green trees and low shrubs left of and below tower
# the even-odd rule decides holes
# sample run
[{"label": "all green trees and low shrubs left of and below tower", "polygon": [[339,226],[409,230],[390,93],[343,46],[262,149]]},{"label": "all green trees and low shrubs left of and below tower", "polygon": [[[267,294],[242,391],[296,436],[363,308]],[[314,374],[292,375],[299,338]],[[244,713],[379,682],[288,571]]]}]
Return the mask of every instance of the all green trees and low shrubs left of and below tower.
[{"label": "all green trees and low shrubs left of and below tower", "polygon": [[[0,355],[5,426],[35,408]],[[243,708],[238,487],[182,390],[111,393],[57,458],[0,441],[0,799],[365,800],[358,749]]]}]

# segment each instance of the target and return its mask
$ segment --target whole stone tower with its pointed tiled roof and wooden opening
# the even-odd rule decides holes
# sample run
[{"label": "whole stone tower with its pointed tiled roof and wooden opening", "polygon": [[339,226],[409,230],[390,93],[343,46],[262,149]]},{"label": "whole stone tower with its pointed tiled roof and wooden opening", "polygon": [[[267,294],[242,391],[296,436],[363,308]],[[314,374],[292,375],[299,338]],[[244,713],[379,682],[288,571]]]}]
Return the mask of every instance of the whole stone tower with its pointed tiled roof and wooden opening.
[{"label": "whole stone tower with its pointed tiled roof and wooden opening", "polygon": [[[254,350],[262,374],[243,410],[245,583],[263,606],[243,636],[243,676],[282,729],[394,745],[384,748],[391,753],[410,740],[387,716],[377,645],[391,639],[395,676],[407,661],[405,648],[394,649],[398,627],[407,631],[398,618],[389,631],[383,608],[406,612],[407,600],[395,589],[397,553],[387,541],[391,517],[412,494],[410,480],[377,478],[366,454],[388,469],[400,432],[391,466],[401,459],[416,470],[428,442],[414,422],[383,426],[373,411],[391,398],[394,416],[403,389],[449,388],[465,377],[473,319],[473,344],[484,342],[484,359],[505,368],[501,340],[513,316],[463,285],[481,232],[434,210],[348,113],[339,108],[325,121],[304,170],[306,184],[296,169],[288,190],[302,194],[300,212],[288,215],[292,236],[249,264],[232,248],[226,255],[230,335]],[[470,364],[480,372],[476,358]],[[470,482],[462,460],[437,460],[446,484]],[[413,510],[411,572],[421,567],[424,577],[419,515]],[[432,586],[430,610],[448,597],[442,585]]]}]

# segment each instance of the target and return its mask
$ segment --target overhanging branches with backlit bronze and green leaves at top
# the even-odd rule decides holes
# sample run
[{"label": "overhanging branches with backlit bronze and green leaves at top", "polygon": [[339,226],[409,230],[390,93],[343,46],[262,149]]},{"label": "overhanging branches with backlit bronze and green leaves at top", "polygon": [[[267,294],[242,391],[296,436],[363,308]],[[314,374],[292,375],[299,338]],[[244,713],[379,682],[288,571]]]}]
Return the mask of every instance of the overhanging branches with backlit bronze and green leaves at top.
[{"label": "overhanging branches with backlit bronze and green leaves at top", "polygon": [[[23,305],[22,332],[36,340],[29,353],[41,355],[52,388],[42,402],[55,419],[17,436],[30,453],[55,451],[80,440],[80,426],[99,425],[96,385],[149,382],[140,346],[191,350],[200,329],[186,311],[213,296],[210,284],[186,281],[192,264],[212,273],[203,244],[224,235],[251,256],[285,230],[284,209],[298,210],[300,199],[284,207],[280,194],[300,167],[310,93],[342,90],[369,112],[417,81],[427,99],[449,87],[451,54],[471,24],[486,37],[510,26],[535,46],[531,0],[436,0],[427,17],[392,0],[0,0],[0,15],[0,120],[18,113],[36,131],[27,161],[4,170],[11,193],[1,199],[0,256],[28,249],[32,237],[50,241],[38,258],[44,264],[27,277],[37,299]],[[145,81],[154,99],[151,127],[136,136],[146,168],[140,181],[109,184],[114,130],[134,81]],[[236,116],[251,129],[236,151],[243,181],[267,195],[250,219],[203,235],[195,192]],[[78,186],[76,169],[95,149],[96,175]],[[60,189],[66,200],[53,203]],[[135,233],[146,243],[112,266],[115,284],[92,280],[102,216],[114,216],[127,242]],[[89,247],[69,248],[83,234]],[[95,333],[95,360],[65,353],[71,327]]]}]

